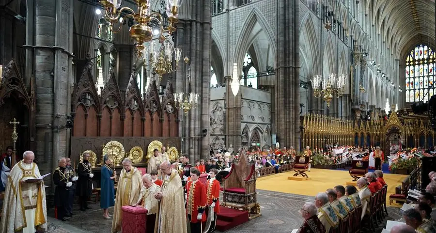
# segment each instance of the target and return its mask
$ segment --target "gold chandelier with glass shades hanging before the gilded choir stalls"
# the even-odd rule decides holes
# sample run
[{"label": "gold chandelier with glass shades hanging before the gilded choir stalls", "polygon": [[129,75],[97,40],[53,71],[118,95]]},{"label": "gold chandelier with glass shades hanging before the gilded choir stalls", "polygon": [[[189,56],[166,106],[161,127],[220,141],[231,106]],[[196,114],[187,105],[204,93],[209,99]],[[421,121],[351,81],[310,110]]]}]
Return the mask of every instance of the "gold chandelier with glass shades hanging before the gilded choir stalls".
[{"label": "gold chandelier with glass shades hanging before the gilded choir stalls", "polygon": [[[315,96],[315,98],[322,96],[327,102],[327,109],[330,108],[333,94],[337,93],[337,97],[339,98],[345,92],[346,77],[346,75],[339,75],[336,79],[336,74],[330,74],[328,77],[324,78],[321,75],[313,76],[311,79],[313,96]],[[334,86],[336,86],[336,88]]]}]

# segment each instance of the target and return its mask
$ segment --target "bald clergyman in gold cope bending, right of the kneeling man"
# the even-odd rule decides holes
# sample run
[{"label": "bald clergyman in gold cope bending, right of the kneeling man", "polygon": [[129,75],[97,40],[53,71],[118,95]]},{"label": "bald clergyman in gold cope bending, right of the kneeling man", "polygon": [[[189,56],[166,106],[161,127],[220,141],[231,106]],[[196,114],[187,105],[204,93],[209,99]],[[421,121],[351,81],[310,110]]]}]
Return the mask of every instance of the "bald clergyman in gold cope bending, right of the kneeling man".
[{"label": "bald clergyman in gold cope bending, right of the kneeling man", "polygon": [[[187,233],[186,210],[182,179],[171,168],[169,161],[160,165],[164,175],[161,191],[154,196],[159,200],[155,233]],[[174,224],[177,222],[178,224]]]}]

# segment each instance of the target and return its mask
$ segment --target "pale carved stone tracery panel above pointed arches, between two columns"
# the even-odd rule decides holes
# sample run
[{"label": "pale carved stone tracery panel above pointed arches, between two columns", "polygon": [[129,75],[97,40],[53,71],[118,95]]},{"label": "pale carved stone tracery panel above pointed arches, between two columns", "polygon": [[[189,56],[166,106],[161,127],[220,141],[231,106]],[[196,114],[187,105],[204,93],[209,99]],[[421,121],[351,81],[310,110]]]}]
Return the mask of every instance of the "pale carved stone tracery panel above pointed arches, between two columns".
[{"label": "pale carved stone tracery panel above pointed arches, between two columns", "polygon": [[241,103],[241,121],[270,123],[271,105],[243,100]]}]

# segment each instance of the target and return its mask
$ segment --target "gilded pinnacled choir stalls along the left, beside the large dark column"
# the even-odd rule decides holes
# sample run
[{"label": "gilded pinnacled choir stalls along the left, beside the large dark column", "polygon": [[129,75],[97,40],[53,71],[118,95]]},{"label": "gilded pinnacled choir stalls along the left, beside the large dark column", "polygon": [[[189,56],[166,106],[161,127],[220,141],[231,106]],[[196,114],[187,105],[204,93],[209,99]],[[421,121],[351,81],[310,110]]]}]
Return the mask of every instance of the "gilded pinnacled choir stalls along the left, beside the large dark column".
[{"label": "gilded pinnacled choir stalls along the left, beside the large dark column", "polygon": [[302,148],[324,148],[326,142],[340,145],[354,144],[353,122],[320,114],[301,117],[303,126]]}]

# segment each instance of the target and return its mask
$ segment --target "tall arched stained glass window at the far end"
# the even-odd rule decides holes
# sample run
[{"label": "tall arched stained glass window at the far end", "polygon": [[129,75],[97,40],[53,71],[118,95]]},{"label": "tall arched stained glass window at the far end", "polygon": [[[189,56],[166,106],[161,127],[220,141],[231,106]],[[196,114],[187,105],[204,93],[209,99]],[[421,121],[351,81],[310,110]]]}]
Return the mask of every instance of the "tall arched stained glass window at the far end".
[{"label": "tall arched stained glass window at the far end", "polygon": [[413,103],[428,101],[436,94],[436,56],[432,48],[426,45],[415,47],[406,58],[405,63],[405,98]]}]

